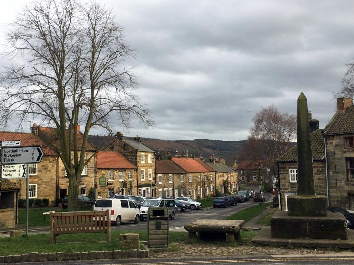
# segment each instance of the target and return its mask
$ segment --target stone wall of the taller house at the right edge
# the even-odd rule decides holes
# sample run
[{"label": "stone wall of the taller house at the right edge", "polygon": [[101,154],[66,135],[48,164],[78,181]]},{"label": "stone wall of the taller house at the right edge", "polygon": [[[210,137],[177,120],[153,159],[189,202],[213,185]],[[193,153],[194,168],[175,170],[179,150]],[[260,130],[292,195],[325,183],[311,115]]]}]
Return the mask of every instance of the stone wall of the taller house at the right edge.
[{"label": "stone wall of the taller house at the right edge", "polygon": [[354,197],[354,180],[347,175],[345,160],[354,157],[354,148],[345,148],[344,137],[348,136],[354,137],[354,134],[326,136],[329,202],[332,206],[353,210],[349,198]]}]

